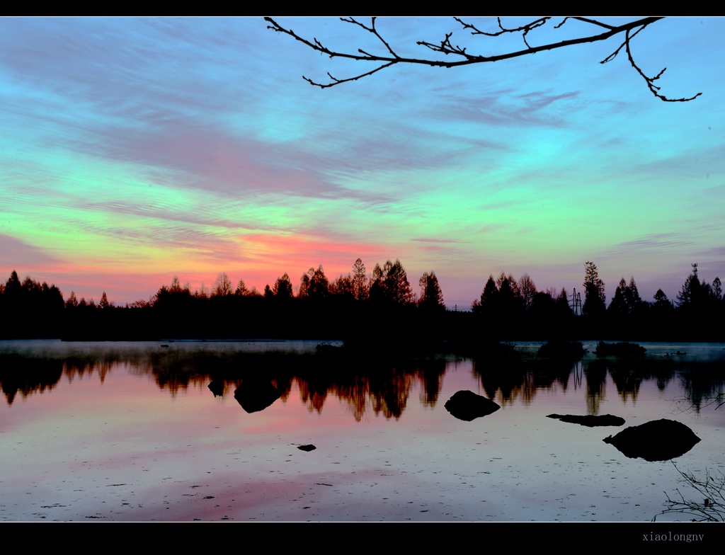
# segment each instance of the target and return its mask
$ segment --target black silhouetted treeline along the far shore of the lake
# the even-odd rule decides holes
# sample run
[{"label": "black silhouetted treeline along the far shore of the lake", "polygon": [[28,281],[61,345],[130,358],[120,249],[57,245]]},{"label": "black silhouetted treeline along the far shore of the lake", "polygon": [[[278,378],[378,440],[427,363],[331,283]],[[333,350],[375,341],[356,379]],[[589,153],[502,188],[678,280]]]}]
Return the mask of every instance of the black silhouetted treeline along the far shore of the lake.
[{"label": "black silhouetted treeline along the far shore of the lake", "polygon": [[0,283],[0,338],[67,341],[197,339],[344,340],[346,345],[465,352],[500,341],[725,341],[725,304],[719,278],[701,281],[697,264],[673,302],[660,289],[652,301],[623,277],[607,306],[605,284],[585,264],[583,292],[537,291],[529,275],[489,277],[471,311],[447,310],[435,272],[424,273],[416,294],[399,260],[368,274],[357,259],[348,275],[328,280],[320,265],[299,281],[286,273],[263,292],[220,273],[212,289],[191,291],[174,277],[149,301],[125,306],[65,298],[55,285]]}]

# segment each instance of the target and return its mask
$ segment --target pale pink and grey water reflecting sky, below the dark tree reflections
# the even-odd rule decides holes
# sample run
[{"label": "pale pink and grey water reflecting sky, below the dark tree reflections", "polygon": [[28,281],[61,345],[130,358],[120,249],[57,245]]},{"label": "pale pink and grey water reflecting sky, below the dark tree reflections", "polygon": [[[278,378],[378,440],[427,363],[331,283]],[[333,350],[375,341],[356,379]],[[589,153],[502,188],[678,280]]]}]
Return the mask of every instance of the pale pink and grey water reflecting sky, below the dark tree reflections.
[{"label": "pale pink and grey water reflecting sky, below the dark tree reflections", "polygon": [[[650,519],[677,487],[669,463],[626,459],[602,442],[617,430],[546,418],[592,409],[581,373],[504,393],[486,391],[471,361],[450,362],[435,402],[422,377],[400,381],[397,418],[364,388],[355,401],[328,388],[314,406],[301,378],[286,401],[252,414],[236,384],[215,397],[208,377],[158,382],[118,362],[3,404],[0,519]],[[443,405],[461,389],[492,394],[502,409],[456,420]],[[600,414],[636,425],[672,418],[679,382],[644,380],[635,396],[607,375],[596,391]],[[721,460],[719,412],[679,420],[703,439],[683,464]],[[306,443],[317,449],[297,449]]]}]

